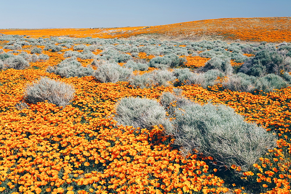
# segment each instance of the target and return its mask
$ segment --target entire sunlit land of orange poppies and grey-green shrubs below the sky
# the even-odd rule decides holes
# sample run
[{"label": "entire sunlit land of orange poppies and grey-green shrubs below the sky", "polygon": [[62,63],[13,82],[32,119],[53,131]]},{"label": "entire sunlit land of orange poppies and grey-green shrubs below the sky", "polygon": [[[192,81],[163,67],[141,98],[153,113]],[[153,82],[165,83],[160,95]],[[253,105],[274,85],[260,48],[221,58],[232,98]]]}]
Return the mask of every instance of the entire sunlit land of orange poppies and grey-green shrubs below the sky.
[{"label": "entire sunlit land of orange poppies and grey-green shrubs below the sky", "polygon": [[290,193],[287,21],[0,30],[1,193]]}]

